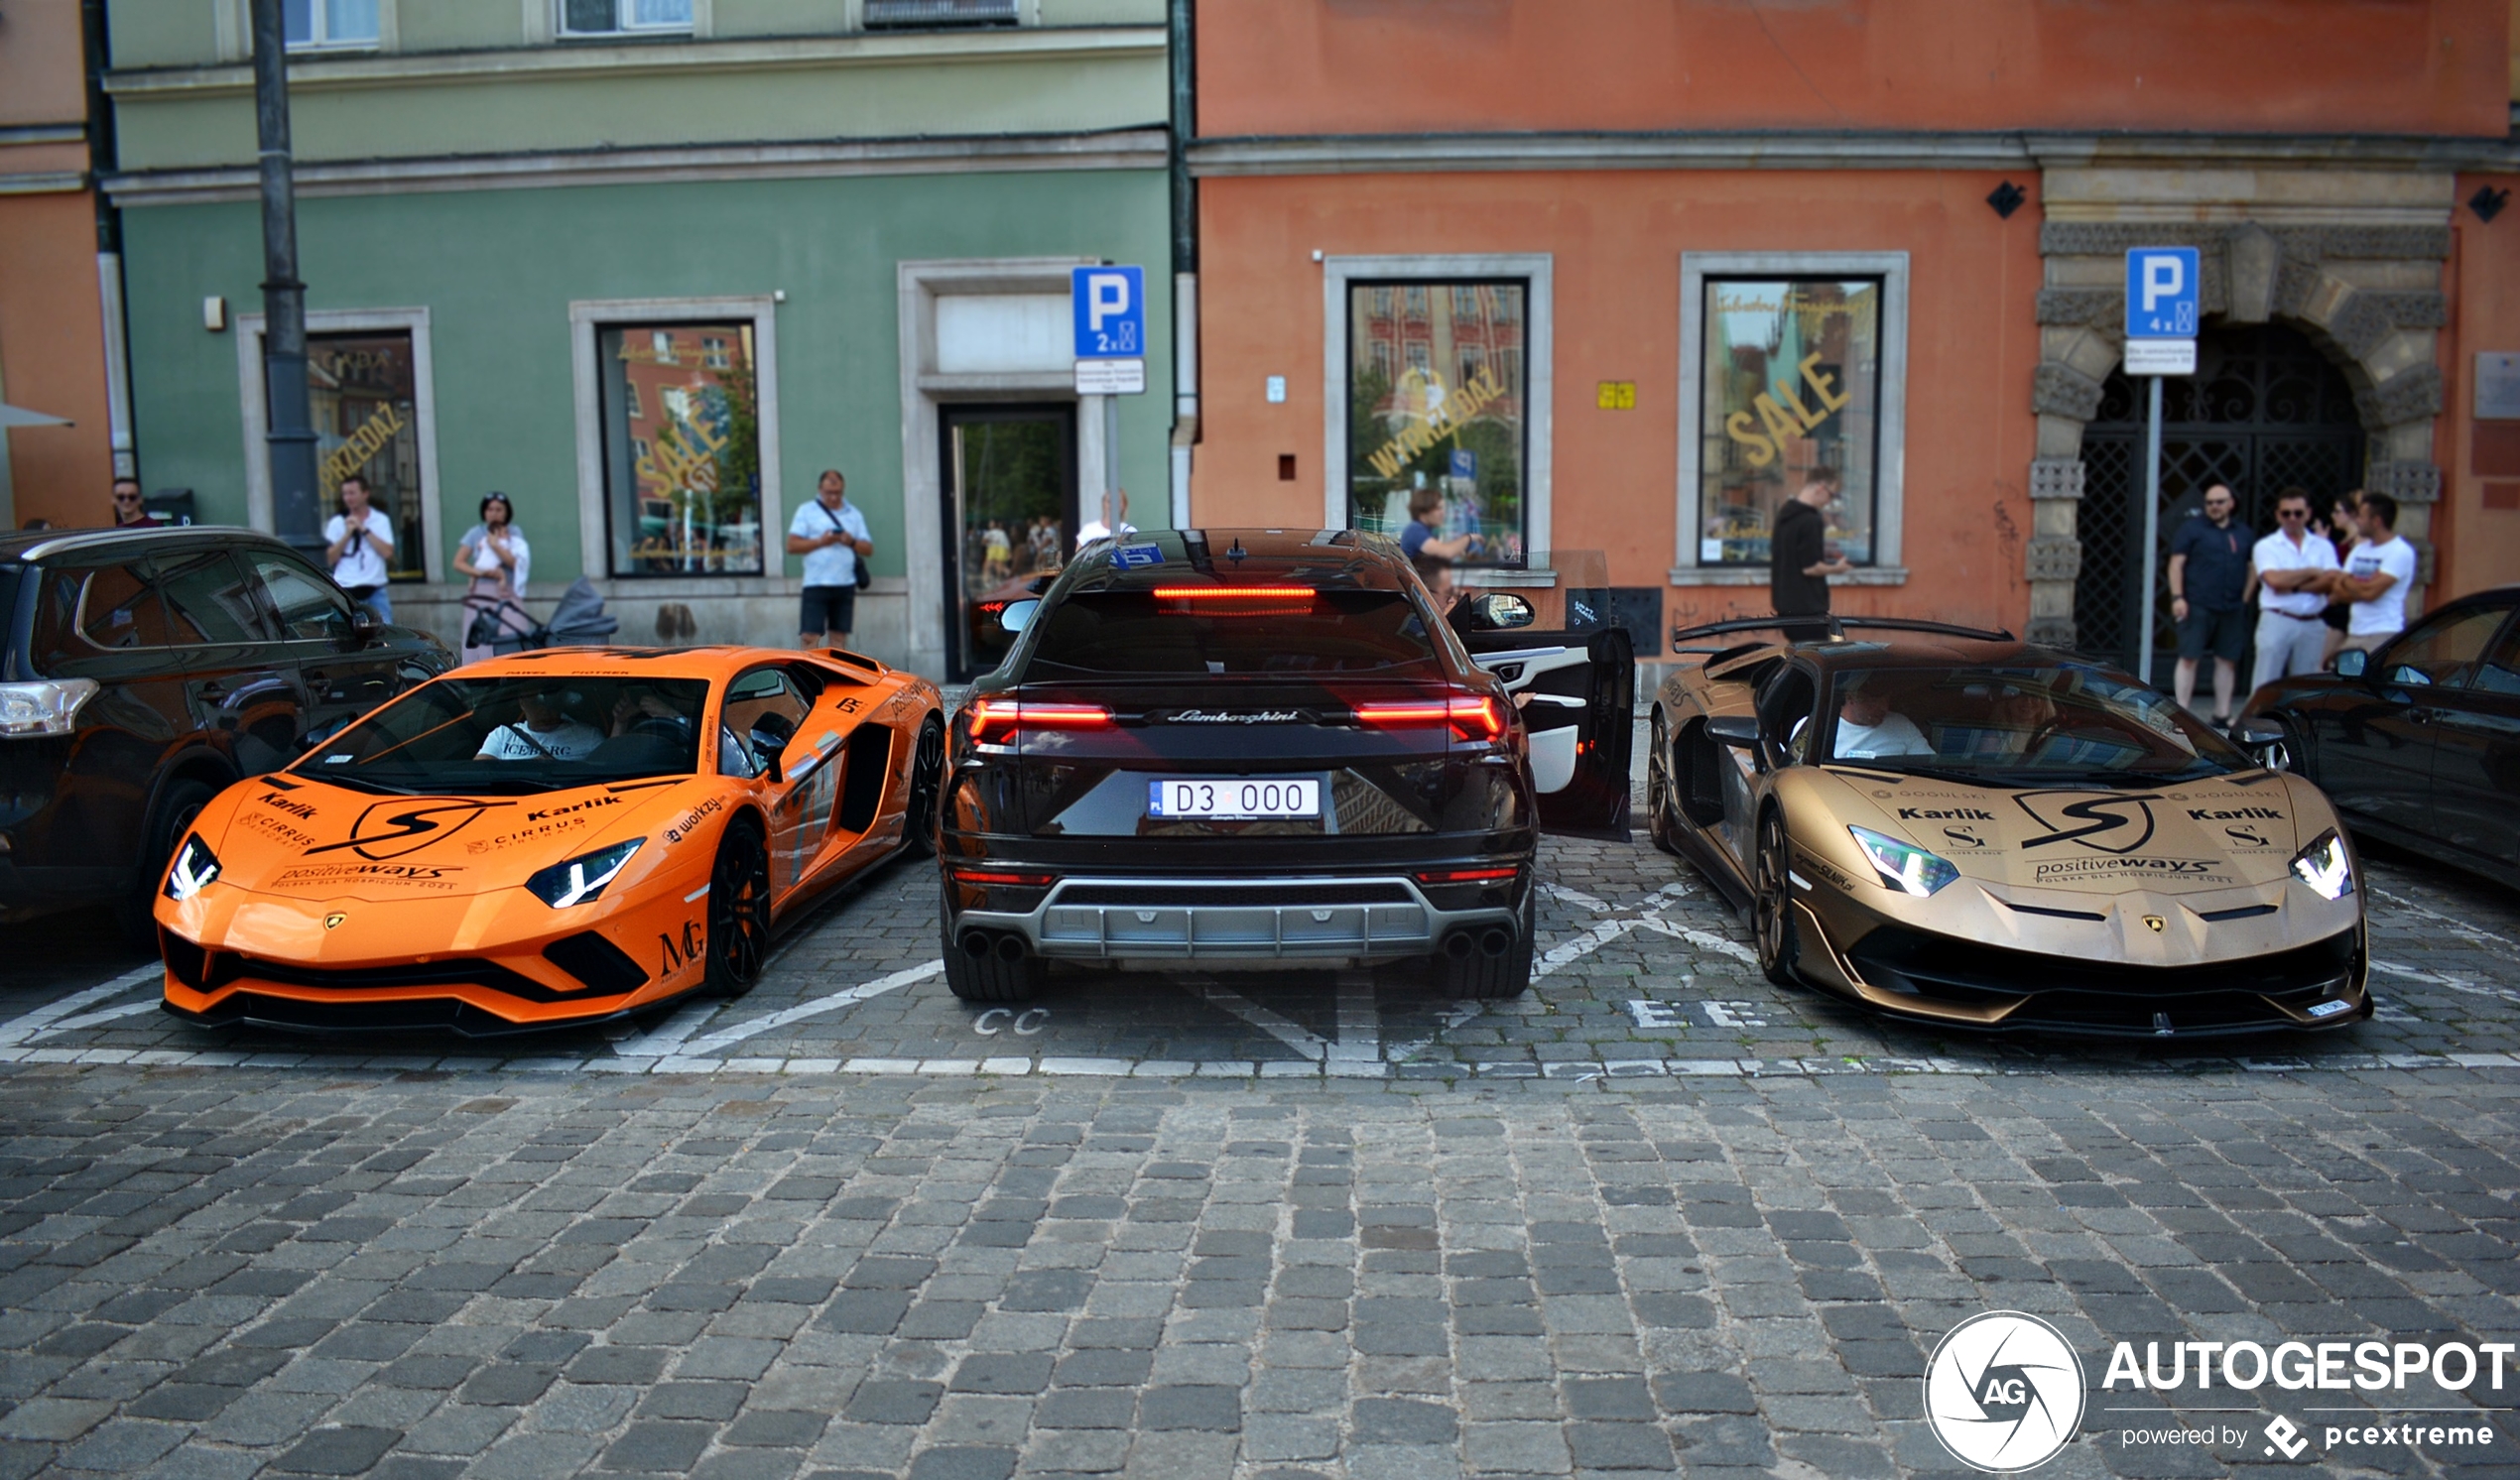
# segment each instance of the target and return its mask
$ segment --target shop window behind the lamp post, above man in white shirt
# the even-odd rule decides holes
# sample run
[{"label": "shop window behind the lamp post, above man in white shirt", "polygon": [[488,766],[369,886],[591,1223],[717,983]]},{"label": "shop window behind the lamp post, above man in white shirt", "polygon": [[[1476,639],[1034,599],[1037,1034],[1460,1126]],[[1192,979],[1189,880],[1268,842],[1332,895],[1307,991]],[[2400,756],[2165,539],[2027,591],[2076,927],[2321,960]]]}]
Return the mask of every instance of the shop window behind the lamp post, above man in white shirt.
[{"label": "shop window behind the lamp post, above man in white shirt", "polygon": [[368,504],[393,529],[393,580],[428,580],[416,381],[411,330],[307,335],[315,487],[325,517],[340,512],[343,479],[368,479]]}]

